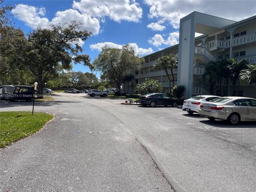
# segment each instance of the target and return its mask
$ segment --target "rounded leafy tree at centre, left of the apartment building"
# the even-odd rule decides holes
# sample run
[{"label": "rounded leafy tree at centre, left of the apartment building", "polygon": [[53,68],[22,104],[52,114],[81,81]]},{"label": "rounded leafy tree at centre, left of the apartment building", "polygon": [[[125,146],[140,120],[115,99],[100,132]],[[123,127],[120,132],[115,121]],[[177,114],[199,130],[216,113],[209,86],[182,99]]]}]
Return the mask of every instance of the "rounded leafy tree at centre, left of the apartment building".
[{"label": "rounded leafy tree at centre, left of the apartment building", "polygon": [[102,72],[103,79],[108,79],[121,90],[123,78],[131,69],[140,69],[142,62],[143,59],[134,54],[133,48],[125,45],[122,49],[104,47],[93,66]]}]

